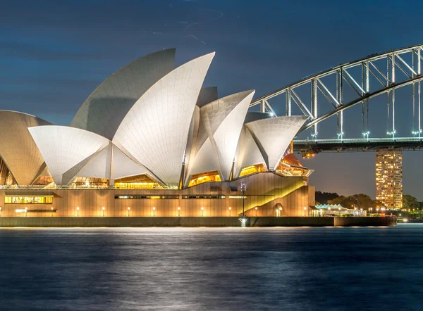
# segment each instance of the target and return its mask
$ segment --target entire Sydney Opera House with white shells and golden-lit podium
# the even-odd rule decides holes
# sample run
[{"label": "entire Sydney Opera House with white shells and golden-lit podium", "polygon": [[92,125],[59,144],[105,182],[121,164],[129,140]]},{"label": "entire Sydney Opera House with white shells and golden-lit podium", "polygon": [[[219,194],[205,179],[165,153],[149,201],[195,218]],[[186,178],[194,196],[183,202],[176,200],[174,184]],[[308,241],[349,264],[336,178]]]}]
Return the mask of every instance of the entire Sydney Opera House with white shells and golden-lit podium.
[{"label": "entire Sydney Opera House with white shells and golden-lit podium", "polygon": [[290,151],[307,118],[249,112],[254,90],[219,98],[214,53],[174,68],[175,53],[125,65],[69,126],[0,110],[1,215],[308,214],[312,170]]}]

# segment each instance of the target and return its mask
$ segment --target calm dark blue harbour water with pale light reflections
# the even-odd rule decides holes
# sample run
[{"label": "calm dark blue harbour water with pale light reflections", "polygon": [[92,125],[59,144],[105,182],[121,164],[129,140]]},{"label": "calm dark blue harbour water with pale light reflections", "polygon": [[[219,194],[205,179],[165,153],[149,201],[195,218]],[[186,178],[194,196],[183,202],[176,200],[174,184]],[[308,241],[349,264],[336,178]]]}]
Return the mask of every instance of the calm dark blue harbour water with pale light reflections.
[{"label": "calm dark blue harbour water with pale light reflections", "polygon": [[0,310],[423,310],[423,224],[0,229]]}]

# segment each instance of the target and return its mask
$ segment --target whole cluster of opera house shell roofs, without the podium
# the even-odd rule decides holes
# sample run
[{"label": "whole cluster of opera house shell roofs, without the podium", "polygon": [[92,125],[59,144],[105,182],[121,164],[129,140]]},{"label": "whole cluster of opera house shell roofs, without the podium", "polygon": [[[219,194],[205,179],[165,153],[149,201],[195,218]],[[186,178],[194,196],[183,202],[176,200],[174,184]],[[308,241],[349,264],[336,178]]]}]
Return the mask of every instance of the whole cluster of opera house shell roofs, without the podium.
[{"label": "whole cluster of opera house shell roofs, without the podium", "polygon": [[274,170],[307,117],[247,113],[251,90],[217,99],[216,87],[202,87],[213,58],[173,69],[168,49],[133,61],[94,90],[70,127],[0,110],[0,155],[21,185],[45,165],[58,185],[147,174],[177,186],[214,170],[222,180],[258,163]]}]

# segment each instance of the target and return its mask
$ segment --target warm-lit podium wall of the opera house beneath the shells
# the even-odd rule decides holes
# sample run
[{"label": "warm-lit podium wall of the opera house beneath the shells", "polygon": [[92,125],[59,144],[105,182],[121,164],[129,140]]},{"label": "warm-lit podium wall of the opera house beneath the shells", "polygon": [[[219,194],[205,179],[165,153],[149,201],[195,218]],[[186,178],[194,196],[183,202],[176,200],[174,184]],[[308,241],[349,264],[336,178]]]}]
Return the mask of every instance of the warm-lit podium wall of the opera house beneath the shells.
[{"label": "warm-lit podium wall of the opera house beneath the shells", "polygon": [[[183,190],[139,190],[139,189],[0,189],[1,215],[4,217],[25,217],[25,213],[16,213],[16,209],[28,208],[27,217],[128,217],[128,207],[132,217],[228,217],[240,215],[243,211],[243,196],[236,191],[241,181],[247,184],[245,191],[245,210],[262,206],[276,198],[284,198],[301,187],[307,188],[302,177],[282,177],[272,172],[252,174],[232,182],[207,182]],[[233,191],[235,189],[235,191]],[[301,209],[307,205],[303,192],[292,194],[283,201],[283,206],[290,208],[290,215],[302,215]],[[53,204],[4,204],[4,197],[53,195]],[[118,199],[115,196],[177,196],[177,198],[142,198]],[[183,198],[199,196],[199,198]],[[201,198],[203,196],[203,198]],[[204,198],[204,196],[224,196],[224,198]],[[31,210],[50,210],[56,212],[31,212]],[[76,208],[80,210],[77,212]],[[153,212],[153,207],[156,208]],[[201,208],[204,208],[203,210]],[[229,210],[231,207],[231,211]],[[270,214],[269,214],[270,215]]]}]

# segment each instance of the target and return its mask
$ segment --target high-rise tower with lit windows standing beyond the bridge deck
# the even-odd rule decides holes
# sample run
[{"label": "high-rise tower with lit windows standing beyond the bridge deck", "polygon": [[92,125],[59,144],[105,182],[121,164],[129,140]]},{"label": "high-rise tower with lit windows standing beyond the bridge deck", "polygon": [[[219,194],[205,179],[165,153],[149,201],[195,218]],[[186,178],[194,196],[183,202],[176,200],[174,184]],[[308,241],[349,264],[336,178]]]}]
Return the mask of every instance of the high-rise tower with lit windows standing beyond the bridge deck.
[{"label": "high-rise tower with lit windows standing beyond the bridge deck", "polygon": [[376,151],[376,200],[403,208],[403,151]]}]

